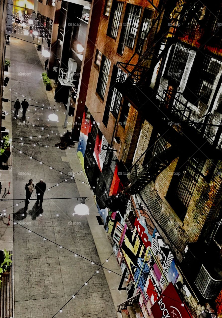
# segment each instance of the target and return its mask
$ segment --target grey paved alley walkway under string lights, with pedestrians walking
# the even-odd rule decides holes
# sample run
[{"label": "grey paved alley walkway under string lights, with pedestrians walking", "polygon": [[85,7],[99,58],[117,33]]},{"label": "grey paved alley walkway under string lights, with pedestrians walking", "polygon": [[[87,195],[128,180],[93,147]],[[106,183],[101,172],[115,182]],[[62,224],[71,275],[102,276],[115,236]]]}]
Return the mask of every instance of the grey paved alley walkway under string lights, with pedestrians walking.
[{"label": "grey paved alley walkway under string lights, with pedestrians walking", "polygon": [[[19,37],[28,41],[32,39],[30,36],[19,35]],[[11,38],[10,50],[12,100],[18,98],[21,101],[26,97],[27,100],[32,98],[39,102],[28,100],[30,104],[44,104],[45,106],[55,104],[52,92],[45,91],[40,77],[43,68],[35,46]],[[22,97],[22,95],[25,96]],[[59,134],[55,135],[55,133],[63,134],[64,130],[61,127],[65,109],[60,107],[60,104],[56,105],[59,107],[57,114],[60,122],[57,124],[50,121],[52,126],[47,128],[49,130],[41,129],[44,124],[49,123],[47,118],[51,111],[48,109],[37,108],[35,110],[35,107],[30,106],[30,111],[26,113],[29,123],[23,123],[20,119],[21,113],[19,113],[18,119],[14,119],[12,116],[13,199],[19,199],[14,201],[14,204],[18,202],[18,206],[14,206],[14,219],[42,237],[100,264],[110,257],[112,249],[104,236],[103,226],[98,225],[93,194],[89,190],[89,186],[81,182],[81,180],[85,180],[84,174],[78,175],[76,180],[68,178],[73,171],[78,172],[81,169],[77,162],[75,149],[65,151],[56,147],[33,146],[36,142],[41,142],[42,145],[54,145],[59,141]],[[30,118],[27,118],[28,116]],[[33,127],[32,124],[39,127]],[[39,135],[41,138],[33,137]],[[15,148],[21,149],[49,167],[30,159],[24,153],[19,153]],[[63,174],[50,169],[50,166]],[[76,171],[76,167],[79,169],[78,171]],[[35,184],[42,178],[46,182],[47,188],[59,183],[59,186],[46,191],[43,210],[38,209],[35,200],[30,201],[26,212],[24,202],[20,203],[25,196],[24,186],[29,178],[32,178]],[[64,181],[66,178],[67,182]],[[60,183],[61,181],[63,182]],[[78,188],[76,183],[78,183]],[[76,199],[57,199],[90,196],[90,193],[88,206],[91,214],[89,217],[72,216],[74,206],[77,204]],[[33,195],[32,198],[36,198],[36,196]],[[97,229],[93,235],[90,231],[92,228]],[[42,237],[28,232],[20,225],[14,225],[15,318],[54,317],[57,311],[97,270],[98,266],[95,264],[92,265],[88,260],[75,257],[73,253],[48,240],[43,240]],[[120,273],[114,255],[110,258],[109,266],[116,273]],[[112,280],[110,287],[106,281],[107,275],[110,275],[109,280]],[[117,303],[127,298],[125,291],[117,291],[120,279],[121,276],[108,273],[107,270],[105,273],[103,270],[99,270],[99,273],[90,279],[88,285],[84,286],[75,299],[70,301],[63,308],[63,312],[58,313],[56,317],[117,317],[112,298],[116,299]]]}]

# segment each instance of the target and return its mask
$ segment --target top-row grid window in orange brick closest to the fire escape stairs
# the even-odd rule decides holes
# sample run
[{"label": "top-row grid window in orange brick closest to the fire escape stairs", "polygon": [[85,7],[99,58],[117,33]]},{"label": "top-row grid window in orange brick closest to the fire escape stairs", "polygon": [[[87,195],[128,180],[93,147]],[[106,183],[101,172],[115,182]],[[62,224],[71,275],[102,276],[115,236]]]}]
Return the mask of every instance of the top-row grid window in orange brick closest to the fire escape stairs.
[{"label": "top-row grid window in orange brick closest to the fire escape stairs", "polygon": [[143,45],[146,41],[145,37],[150,29],[152,16],[153,16],[153,11],[145,8],[143,12],[143,20],[140,27],[140,33],[139,33],[137,44],[136,44],[136,52],[138,54],[142,53]]}]

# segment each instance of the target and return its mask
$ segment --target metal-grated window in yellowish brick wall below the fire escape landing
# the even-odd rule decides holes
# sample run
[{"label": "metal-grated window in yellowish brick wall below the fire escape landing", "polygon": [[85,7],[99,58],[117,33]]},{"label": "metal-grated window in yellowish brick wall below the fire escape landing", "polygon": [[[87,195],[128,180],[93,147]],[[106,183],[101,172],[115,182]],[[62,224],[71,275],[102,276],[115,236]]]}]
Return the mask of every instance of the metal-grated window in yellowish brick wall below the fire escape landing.
[{"label": "metal-grated window in yellowish brick wall below the fire escape landing", "polygon": [[181,200],[186,208],[190,203],[190,199],[197,185],[200,173],[203,169],[203,164],[203,161],[196,158],[190,158],[180,177],[180,182],[175,195]]}]

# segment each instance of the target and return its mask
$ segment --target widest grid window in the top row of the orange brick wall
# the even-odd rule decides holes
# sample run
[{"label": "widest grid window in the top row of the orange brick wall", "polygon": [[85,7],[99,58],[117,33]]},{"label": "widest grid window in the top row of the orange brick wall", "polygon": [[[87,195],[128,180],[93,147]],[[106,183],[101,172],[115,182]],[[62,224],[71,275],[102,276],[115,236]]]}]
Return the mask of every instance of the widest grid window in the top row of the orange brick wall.
[{"label": "widest grid window in the top row of the orange brick wall", "polygon": [[126,13],[118,45],[118,53],[121,55],[123,54],[125,46],[133,49],[140,23],[141,11],[142,8],[137,5],[126,5]]}]

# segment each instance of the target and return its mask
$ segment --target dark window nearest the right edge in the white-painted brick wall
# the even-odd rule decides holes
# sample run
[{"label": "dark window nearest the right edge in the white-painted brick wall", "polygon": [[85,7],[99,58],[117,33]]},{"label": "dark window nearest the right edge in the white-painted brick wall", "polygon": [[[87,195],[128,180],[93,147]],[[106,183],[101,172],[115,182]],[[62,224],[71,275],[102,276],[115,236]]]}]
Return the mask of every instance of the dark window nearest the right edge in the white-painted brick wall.
[{"label": "dark window nearest the right edge in the white-painted brick wall", "polygon": [[184,97],[194,105],[199,100],[208,104],[220,66],[221,62],[210,54],[204,56],[202,52],[197,52],[184,90]]}]

